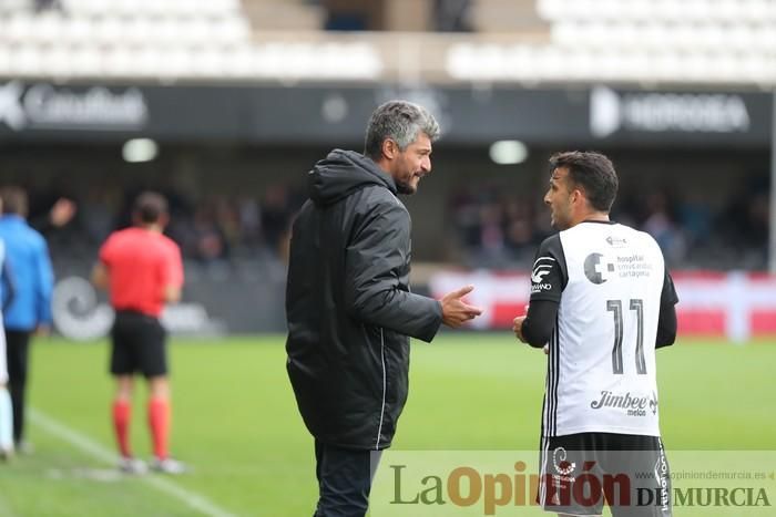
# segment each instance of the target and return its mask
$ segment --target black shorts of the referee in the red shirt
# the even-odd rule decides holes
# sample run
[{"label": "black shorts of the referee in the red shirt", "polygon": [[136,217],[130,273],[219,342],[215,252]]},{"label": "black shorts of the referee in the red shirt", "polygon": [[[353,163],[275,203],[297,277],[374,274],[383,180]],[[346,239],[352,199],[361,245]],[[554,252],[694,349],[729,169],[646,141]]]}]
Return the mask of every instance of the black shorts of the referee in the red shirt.
[{"label": "black shorts of the referee in the red shirt", "polygon": [[146,379],[167,374],[166,331],[157,318],[116,311],[111,330],[111,373],[142,373]]}]

